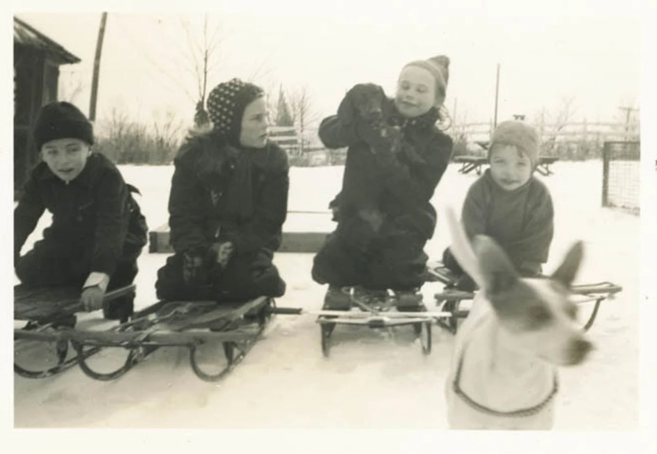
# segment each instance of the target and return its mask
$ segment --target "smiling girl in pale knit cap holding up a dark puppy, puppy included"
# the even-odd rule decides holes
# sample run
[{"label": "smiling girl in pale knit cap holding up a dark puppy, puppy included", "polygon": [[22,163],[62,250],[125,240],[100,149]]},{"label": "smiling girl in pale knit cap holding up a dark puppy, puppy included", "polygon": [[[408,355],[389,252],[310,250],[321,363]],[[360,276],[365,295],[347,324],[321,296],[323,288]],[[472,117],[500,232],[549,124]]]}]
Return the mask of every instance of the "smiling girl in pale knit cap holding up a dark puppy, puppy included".
[{"label": "smiling girl in pale knit cap holding up a dark puppy, puppy included", "polygon": [[394,100],[379,86],[359,84],[320,124],[325,146],[348,146],[342,190],[331,203],[338,225],[312,269],[315,281],[329,284],[326,308],[371,302],[388,289],[398,308],[419,307],[423,248],[436,221],[429,201],[452,148],[435,126],[448,67],[446,56],[408,63]]}]

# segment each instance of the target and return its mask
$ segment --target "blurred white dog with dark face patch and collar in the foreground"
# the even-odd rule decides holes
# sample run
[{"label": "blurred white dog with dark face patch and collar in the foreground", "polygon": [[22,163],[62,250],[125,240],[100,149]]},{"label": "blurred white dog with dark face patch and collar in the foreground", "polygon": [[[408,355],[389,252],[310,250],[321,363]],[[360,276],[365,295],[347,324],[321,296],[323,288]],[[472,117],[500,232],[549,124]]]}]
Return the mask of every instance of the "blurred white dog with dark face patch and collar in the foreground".
[{"label": "blurred white dog with dark face patch and collar in the foreground", "polygon": [[569,300],[582,243],[550,279],[524,279],[490,237],[475,237],[473,251],[454,213],[447,217],[451,251],[481,289],[456,334],[446,389],[449,426],[550,429],[556,366],[581,363],[592,350]]}]

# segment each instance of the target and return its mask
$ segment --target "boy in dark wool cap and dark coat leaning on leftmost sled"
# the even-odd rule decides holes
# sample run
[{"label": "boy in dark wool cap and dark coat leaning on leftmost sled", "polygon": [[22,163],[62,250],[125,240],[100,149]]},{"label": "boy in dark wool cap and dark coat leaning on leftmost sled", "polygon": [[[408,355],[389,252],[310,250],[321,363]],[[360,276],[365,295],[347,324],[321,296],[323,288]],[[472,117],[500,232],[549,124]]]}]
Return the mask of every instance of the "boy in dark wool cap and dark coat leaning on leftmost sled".
[{"label": "boy in dark wool cap and dark coat leaning on leftmost sled", "polygon": [[[14,268],[22,285],[79,285],[87,311],[107,290],[132,283],[146,244],[146,223],[116,166],[91,151],[93,127],[77,107],[42,107],[33,130],[42,157],[14,210]],[[136,189],[135,189],[136,190]],[[52,225],[20,256],[44,210]],[[132,296],[103,307],[105,318],[127,320]],[[75,320],[72,321],[75,323]]]}]

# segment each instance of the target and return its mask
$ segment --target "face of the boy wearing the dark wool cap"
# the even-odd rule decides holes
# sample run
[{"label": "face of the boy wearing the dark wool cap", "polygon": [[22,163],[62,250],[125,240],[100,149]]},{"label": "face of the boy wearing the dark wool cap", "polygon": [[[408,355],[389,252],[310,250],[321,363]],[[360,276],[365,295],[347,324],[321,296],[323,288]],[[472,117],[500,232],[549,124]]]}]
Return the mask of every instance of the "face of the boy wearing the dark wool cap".
[{"label": "face of the boy wearing the dark wool cap", "polygon": [[82,172],[91,153],[88,143],[80,139],[54,139],[41,146],[41,157],[58,178],[69,182]]}]

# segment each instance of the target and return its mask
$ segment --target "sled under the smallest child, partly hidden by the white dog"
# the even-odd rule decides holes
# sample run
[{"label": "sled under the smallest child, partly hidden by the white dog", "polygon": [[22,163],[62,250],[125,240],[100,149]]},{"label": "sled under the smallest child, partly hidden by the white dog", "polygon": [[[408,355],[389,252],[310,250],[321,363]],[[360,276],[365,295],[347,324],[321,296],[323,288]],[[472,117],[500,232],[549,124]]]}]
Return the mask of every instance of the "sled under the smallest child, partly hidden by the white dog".
[{"label": "sled under the smallest child, partly hidden by the white dog", "polygon": [[[454,334],[458,328],[458,320],[467,317],[467,314],[470,312],[460,307],[461,302],[474,299],[476,292],[464,292],[456,289],[456,283],[460,276],[454,274],[454,272],[445,267],[441,262],[429,264],[428,272],[433,276],[433,280],[445,284],[444,290],[435,294],[435,302],[438,306],[442,305],[442,311],[449,313],[449,317],[447,317],[447,320],[436,320],[441,327]],[[596,320],[600,304],[605,299],[613,299],[621,290],[623,288],[620,285],[608,281],[573,285],[570,288],[571,294],[573,295],[573,302],[577,304],[595,302],[589,318],[582,325],[582,329],[588,331]]]}]

